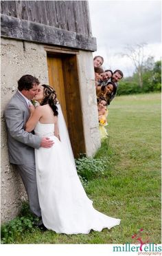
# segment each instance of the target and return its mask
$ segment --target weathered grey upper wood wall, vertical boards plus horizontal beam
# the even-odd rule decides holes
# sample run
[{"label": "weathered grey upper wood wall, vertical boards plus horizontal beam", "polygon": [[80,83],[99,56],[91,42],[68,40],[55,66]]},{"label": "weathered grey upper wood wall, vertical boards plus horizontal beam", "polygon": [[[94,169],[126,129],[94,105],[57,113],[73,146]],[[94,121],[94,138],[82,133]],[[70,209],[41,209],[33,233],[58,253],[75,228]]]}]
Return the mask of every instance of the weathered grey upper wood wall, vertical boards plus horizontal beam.
[{"label": "weathered grey upper wood wall, vertical boards plus horizontal beam", "polygon": [[97,50],[88,1],[1,1],[1,36]]}]

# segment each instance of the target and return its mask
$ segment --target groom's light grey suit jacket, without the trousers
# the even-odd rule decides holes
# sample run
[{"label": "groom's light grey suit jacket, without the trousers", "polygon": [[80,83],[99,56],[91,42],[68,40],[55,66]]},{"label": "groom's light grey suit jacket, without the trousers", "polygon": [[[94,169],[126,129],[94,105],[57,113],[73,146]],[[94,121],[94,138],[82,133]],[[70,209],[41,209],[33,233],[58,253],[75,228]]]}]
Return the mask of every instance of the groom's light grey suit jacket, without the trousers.
[{"label": "groom's light grey suit jacket, without the trousers", "polygon": [[25,131],[30,116],[25,98],[16,92],[5,107],[5,122],[8,131],[8,154],[12,164],[34,163],[34,148],[40,147],[41,138]]}]

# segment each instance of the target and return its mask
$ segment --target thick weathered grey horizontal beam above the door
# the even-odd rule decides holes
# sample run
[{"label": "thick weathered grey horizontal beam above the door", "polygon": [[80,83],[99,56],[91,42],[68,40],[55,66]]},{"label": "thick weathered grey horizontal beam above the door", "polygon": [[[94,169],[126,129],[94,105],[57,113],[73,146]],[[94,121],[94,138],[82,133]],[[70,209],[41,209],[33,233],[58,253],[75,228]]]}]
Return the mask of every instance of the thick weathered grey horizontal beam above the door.
[{"label": "thick weathered grey horizontal beam above the door", "polygon": [[97,50],[95,37],[18,19],[5,14],[1,14],[1,37],[47,45],[60,45],[91,52]]}]

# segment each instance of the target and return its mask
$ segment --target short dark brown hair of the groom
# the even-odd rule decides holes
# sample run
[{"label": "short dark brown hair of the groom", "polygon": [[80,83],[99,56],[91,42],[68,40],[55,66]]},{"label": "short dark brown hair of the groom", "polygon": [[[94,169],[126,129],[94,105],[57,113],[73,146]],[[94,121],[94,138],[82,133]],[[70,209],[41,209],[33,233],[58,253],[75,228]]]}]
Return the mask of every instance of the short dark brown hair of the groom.
[{"label": "short dark brown hair of the groom", "polygon": [[32,89],[33,85],[37,84],[39,85],[40,82],[38,81],[38,78],[36,78],[35,76],[32,75],[25,75],[22,76],[19,81],[18,81],[18,89],[19,91],[23,91],[23,89],[25,89],[26,91],[29,91],[30,89]]}]

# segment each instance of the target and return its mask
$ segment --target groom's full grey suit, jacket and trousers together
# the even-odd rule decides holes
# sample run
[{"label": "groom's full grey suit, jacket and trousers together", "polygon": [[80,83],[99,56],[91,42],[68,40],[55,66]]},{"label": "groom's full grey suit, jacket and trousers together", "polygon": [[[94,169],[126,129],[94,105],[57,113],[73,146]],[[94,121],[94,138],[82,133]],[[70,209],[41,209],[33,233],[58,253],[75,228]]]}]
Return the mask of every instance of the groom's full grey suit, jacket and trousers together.
[{"label": "groom's full grey suit, jacket and trousers together", "polygon": [[9,161],[16,164],[19,170],[27,191],[31,211],[40,217],[34,148],[40,147],[41,138],[25,131],[25,123],[29,116],[30,111],[25,98],[16,92],[5,107]]}]

